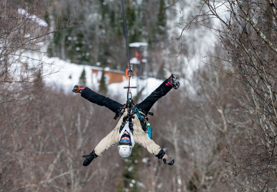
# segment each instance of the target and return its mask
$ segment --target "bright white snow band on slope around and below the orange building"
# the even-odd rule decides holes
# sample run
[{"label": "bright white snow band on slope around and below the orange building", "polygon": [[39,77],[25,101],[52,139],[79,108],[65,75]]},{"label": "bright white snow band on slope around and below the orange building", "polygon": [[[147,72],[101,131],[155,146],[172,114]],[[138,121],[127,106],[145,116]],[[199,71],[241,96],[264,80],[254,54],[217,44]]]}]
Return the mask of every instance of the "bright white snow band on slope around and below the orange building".
[{"label": "bright white snow band on slope around and below the orange building", "polygon": [[[31,71],[39,71],[42,67],[43,80],[46,86],[58,86],[64,90],[65,93],[72,93],[74,85],[80,84],[79,78],[83,70],[85,70],[86,86],[98,91],[100,77],[92,76],[93,66],[78,65],[70,63],[69,61],[62,60],[58,57],[47,57],[46,54],[40,52],[18,52],[16,56],[10,58],[10,62],[13,63],[10,66],[11,71],[14,71],[13,80],[21,80],[20,77],[34,76]],[[26,65],[26,72],[22,72],[22,64]],[[95,67],[94,67],[95,68]],[[105,70],[109,70],[105,68]],[[97,79],[95,79],[97,78]],[[130,86],[136,86],[137,88],[131,89],[132,97],[137,95],[137,92],[142,90],[142,95],[147,96],[154,91],[164,80],[155,78],[138,79],[136,77],[131,78]],[[127,89],[124,86],[128,86],[128,79],[124,79],[120,83],[112,83],[107,85],[108,95],[117,96],[123,101],[127,99]]]}]

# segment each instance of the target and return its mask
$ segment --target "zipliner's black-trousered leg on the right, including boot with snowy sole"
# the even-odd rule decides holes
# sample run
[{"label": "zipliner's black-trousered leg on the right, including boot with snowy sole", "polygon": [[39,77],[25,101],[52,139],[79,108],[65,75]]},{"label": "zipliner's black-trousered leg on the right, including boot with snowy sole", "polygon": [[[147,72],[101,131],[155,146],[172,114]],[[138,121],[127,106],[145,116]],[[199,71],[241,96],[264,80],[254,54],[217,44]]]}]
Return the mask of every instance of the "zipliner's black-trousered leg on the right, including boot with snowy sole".
[{"label": "zipliner's black-trousered leg on the right, including boot with snowy sole", "polygon": [[179,87],[177,76],[171,74],[162,84],[155,89],[147,98],[138,104],[138,108],[141,110],[149,111],[151,107],[158,101],[159,98],[165,96],[172,88],[177,89]]}]

